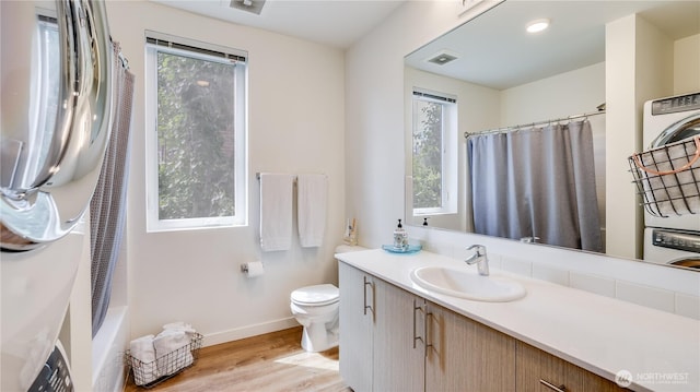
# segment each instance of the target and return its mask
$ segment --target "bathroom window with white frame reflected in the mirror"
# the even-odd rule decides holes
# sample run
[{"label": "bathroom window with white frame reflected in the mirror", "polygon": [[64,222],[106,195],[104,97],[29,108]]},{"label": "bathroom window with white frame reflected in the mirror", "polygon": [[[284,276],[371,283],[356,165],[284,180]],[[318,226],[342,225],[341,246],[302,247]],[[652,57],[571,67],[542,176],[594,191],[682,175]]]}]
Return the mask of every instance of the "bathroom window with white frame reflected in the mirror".
[{"label": "bathroom window with white frame reflected in the mirror", "polygon": [[447,94],[413,90],[413,215],[457,212],[457,100]]}]

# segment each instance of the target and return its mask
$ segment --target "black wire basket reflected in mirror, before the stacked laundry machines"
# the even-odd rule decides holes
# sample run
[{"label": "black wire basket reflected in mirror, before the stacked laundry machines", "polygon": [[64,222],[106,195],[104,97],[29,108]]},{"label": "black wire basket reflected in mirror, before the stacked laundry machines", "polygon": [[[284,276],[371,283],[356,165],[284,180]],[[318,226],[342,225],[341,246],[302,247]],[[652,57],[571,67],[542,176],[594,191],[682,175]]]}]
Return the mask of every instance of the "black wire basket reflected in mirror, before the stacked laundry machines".
[{"label": "black wire basket reflected in mirror, before the stacked laundry machines", "polygon": [[700,213],[700,136],[634,154],[628,161],[650,214]]}]

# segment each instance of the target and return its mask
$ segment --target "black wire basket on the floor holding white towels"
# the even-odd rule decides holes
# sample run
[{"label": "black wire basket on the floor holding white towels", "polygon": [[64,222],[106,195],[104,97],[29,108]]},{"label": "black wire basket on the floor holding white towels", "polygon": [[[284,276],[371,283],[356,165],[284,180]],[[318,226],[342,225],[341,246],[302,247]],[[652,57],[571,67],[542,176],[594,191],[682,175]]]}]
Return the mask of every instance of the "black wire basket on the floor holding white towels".
[{"label": "black wire basket on the floor holding white towels", "polygon": [[133,375],[133,383],[147,389],[152,388],[192,366],[199,357],[201,342],[202,335],[195,333],[189,344],[152,361],[142,361],[127,351],[124,357]]}]

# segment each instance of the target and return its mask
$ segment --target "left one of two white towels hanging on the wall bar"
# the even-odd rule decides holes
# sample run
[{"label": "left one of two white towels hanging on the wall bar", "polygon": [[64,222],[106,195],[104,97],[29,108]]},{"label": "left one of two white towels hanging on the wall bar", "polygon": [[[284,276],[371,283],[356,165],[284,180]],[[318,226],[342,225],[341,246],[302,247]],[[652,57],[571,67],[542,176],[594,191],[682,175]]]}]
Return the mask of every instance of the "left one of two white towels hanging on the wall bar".
[{"label": "left one of two white towels hanging on the wall bar", "polygon": [[264,251],[292,246],[292,190],[294,176],[260,174],[260,247]]}]

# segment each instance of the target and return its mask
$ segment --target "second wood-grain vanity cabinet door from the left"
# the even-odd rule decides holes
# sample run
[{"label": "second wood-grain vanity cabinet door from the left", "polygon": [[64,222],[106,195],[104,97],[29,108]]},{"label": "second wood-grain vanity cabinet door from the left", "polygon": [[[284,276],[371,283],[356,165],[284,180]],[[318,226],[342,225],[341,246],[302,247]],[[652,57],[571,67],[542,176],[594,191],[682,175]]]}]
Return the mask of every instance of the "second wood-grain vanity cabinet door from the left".
[{"label": "second wood-grain vanity cabinet door from the left", "polygon": [[423,391],[425,300],[381,280],[375,288],[374,391]]}]

